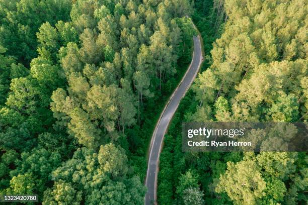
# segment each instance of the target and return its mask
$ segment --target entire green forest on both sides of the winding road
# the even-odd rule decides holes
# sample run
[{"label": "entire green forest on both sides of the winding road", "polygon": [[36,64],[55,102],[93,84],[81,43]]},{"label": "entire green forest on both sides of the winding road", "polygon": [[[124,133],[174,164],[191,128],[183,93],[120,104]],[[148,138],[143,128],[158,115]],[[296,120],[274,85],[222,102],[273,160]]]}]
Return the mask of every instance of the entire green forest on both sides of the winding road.
[{"label": "entire green forest on both sides of the winding road", "polygon": [[302,0],[0,0],[0,195],[144,204],[194,23],[206,57],[165,135],[158,204],[306,204],[305,152],[184,153],[179,128],[306,122],[307,13]]}]

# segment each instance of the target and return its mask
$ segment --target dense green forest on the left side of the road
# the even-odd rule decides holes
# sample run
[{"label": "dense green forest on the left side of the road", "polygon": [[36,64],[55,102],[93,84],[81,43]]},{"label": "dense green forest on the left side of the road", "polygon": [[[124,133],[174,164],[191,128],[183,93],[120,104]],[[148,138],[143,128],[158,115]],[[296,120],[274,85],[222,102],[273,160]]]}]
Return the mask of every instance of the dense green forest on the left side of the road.
[{"label": "dense green forest on the left side of the road", "polygon": [[192,6],[1,0],[0,195],[143,204],[153,125],[191,59]]}]

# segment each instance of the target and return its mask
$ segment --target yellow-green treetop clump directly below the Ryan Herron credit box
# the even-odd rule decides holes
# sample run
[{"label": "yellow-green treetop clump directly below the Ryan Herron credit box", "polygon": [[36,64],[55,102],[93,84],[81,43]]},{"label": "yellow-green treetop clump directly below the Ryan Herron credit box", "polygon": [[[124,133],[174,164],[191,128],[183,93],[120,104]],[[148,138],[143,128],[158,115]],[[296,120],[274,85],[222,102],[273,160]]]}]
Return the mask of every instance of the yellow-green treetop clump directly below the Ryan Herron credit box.
[{"label": "yellow-green treetop clump directly below the Ryan Herron credit box", "polygon": [[220,176],[217,192],[226,192],[236,203],[268,204],[284,200],[284,181],[293,176],[297,153],[262,152],[253,160],[227,163]]}]

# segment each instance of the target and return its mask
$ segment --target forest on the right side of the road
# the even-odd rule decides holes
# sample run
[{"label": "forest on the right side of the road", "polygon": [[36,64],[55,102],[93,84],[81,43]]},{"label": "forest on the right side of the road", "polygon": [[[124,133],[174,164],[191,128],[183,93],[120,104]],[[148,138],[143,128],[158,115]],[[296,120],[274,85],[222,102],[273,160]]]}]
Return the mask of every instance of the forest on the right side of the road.
[{"label": "forest on the right side of the road", "polygon": [[165,136],[158,203],[306,204],[305,152],[183,153],[177,128],[182,122],[306,122],[308,5],[196,0],[194,8],[207,57]]}]

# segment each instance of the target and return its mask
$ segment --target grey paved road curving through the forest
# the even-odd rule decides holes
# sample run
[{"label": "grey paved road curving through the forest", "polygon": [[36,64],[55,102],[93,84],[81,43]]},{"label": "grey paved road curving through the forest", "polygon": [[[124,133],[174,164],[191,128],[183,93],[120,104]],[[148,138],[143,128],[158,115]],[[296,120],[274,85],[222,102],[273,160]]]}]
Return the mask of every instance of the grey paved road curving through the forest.
[{"label": "grey paved road curving through the forest", "polygon": [[195,79],[202,58],[202,50],[201,50],[201,42],[200,37],[193,37],[194,40],[194,53],[191,64],[185,73],[180,85],[173,92],[167,106],[165,107],[163,114],[159,119],[159,123],[156,126],[150,144],[150,153],[147,164],[147,172],[145,185],[147,187],[147,193],[145,194],[145,205],[152,205],[154,201],[157,199],[157,177],[158,177],[158,165],[159,158],[162,149],[162,143],[164,139],[164,135],[167,131],[168,125],[177,110],[181,98],[185,95],[189,86]]}]

